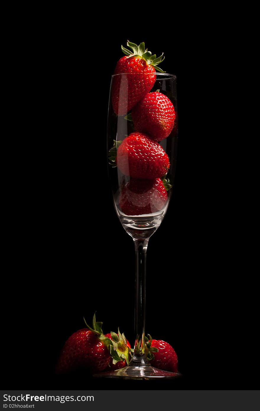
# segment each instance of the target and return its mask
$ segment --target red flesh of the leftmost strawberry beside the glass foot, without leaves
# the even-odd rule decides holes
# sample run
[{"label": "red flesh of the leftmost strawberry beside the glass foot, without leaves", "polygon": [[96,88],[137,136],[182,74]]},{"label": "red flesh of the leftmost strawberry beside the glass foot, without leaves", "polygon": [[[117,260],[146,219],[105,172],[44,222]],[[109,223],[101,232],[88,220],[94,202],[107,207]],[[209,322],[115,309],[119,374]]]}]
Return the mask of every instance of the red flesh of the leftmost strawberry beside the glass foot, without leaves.
[{"label": "red flesh of the leftmost strawberry beside the glass foot, without leaves", "polygon": [[103,371],[109,363],[110,353],[97,335],[83,328],[72,334],[64,344],[56,373],[63,374],[78,368],[88,368],[92,372]]}]

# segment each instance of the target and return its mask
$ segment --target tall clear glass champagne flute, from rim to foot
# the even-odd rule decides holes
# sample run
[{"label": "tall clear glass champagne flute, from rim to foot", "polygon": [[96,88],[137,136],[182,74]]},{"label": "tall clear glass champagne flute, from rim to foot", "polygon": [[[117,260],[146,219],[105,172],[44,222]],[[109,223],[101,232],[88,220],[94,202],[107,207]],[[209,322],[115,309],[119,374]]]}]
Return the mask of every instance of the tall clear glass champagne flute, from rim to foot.
[{"label": "tall clear glass champagne flute, from rim to foot", "polygon": [[[151,76],[151,74],[142,75]],[[171,74],[153,74],[155,81],[150,93],[153,92],[153,97],[159,102],[159,117],[157,116],[157,120],[161,121],[160,110],[164,110],[164,112],[168,110],[168,108],[164,108],[168,100],[164,101],[163,95],[170,99],[175,111],[174,125],[170,127],[170,134],[168,137],[160,140],[160,132],[156,129],[153,119],[150,121],[149,117],[143,116],[139,121],[136,119],[136,115],[138,117],[140,114],[138,109],[134,118],[133,114],[136,113],[135,107],[132,109],[132,116],[130,113],[126,115],[127,99],[132,98],[130,91],[133,89],[134,79],[132,76],[133,74],[131,73],[115,74],[112,76],[108,110],[108,172],[117,216],[125,231],[133,238],[136,251],[136,341],[133,357],[127,367],[113,372],[103,372],[99,376],[126,379],[174,378],[178,373],[152,367],[147,359],[145,277],[148,241],[160,226],[172,196],[177,154],[176,77]],[[136,90],[137,94],[138,91]],[[172,115],[170,120],[172,123],[174,118]],[[161,124],[163,124],[163,120]],[[168,125],[163,124],[164,126],[167,129]],[[136,131],[137,129],[138,131]],[[165,135],[167,135],[167,131]],[[148,138],[149,147],[147,147],[146,138]],[[123,147],[126,144],[126,139],[132,139],[127,147],[127,154]],[[131,145],[132,142],[136,145]],[[144,142],[147,149],[142,150],[140,145]],[[121,144],[122,147],[120,149]],[[159,155],[156,155],[157,152],[159,152]],[[131,156],[133,156],[133,159],[130,158]],[[161,167],[159,171],[157,170],[158,164],[156,162],[159,162],[159,169]],[[167,162],[170,165],[167,165]],[[164,173],[162,170],[165,164],[166,172]],[[143,175],[142,173],[140,174],[140,168]],[[167,175],[163,176],[163,174]]]}]

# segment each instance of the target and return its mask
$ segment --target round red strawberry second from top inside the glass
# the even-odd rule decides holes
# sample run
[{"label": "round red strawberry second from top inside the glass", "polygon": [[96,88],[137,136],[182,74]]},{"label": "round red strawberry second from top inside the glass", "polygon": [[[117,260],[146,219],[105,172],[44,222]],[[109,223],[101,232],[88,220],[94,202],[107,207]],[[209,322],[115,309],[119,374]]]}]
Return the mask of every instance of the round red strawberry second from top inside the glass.
[{"label": "round red strawberry second from top inside the glass", "polygon": [[136,131],[149,134],[154,141],[161,141],[174,127],[175,109],[168,97],[155,91],[133,107],[132,118]]}]

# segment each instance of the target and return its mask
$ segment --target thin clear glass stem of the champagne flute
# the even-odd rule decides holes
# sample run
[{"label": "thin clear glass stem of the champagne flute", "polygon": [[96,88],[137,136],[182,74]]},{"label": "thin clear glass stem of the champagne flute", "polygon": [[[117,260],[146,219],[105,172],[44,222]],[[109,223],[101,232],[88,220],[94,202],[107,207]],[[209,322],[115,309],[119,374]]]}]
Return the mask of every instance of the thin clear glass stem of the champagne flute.
[{"label": "thin clear glass stem of the champagne flute", "polygon": [[136,303],[135,303],[135,334],[136,342],[132,363],[147,363],[145,357],[145,276],[146,250],[149,238],[134,239],[136,249]]}]

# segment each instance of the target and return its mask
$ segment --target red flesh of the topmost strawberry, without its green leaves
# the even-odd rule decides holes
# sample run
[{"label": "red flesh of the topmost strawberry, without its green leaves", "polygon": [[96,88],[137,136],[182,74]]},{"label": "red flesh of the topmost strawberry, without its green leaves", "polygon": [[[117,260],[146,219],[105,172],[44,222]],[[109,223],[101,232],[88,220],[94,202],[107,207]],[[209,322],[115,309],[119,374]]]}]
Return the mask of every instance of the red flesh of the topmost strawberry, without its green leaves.
[{"label": "red flesh of the topmost strawberry, without its green leaves", "polygon": [[112,106],[117,115],[126,115],[152,89],[156,72],[143,58],[124,56],[118,60],[112,84]]}]

